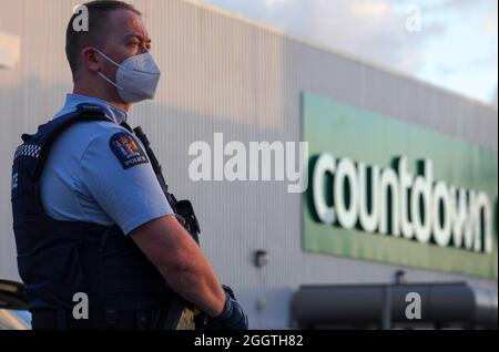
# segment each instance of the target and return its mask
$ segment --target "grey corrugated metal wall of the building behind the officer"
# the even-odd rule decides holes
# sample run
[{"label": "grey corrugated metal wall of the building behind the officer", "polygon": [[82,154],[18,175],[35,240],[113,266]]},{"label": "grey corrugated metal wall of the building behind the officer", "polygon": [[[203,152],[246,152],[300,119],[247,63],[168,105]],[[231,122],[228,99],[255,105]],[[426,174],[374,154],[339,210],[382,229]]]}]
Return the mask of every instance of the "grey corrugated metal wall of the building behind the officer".
[{"label": "grey corrugated metal wall of the building behind the officer", "polygon": [[[309,45],[279,31],[180,0],[131,1],[144,12],[164,73],[154,102],[130,121],[149,133],[171,187],[190,197],[202,245],[222,281],[235,287],[253,328],[288,325],[291,294],[302,283],[388,282],[395,267],[302,251],[301,196],[284,183],[192,183],[194,141],[299,141],[299,93],[307,91],[497,152],[497,112],[442,90]],[[19,136],[33,132],[71,90],[64,29],[77,1],[4,1],[0,31],[21,37],[21,62],[0,70],[0,277],[18,278],[10,211],[10,164]],[[6,8],[7,6],[7,8]],[[255,249],[269,252],[263,269]],[[489,280],[407,269],[411,281]],[[255,301],[266,308],[258,313]]]}]

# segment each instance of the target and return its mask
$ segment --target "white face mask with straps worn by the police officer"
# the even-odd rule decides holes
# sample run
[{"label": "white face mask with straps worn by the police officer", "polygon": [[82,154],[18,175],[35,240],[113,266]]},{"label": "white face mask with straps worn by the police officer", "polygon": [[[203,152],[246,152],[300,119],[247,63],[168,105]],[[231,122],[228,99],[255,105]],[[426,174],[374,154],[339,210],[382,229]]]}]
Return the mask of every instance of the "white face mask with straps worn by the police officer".
[{"label": "white face mask with straps worn by the police officer", "polygon": [[115,83],[101,72],[98,74],[118,89],[118,94],[123,102],[138,103],[154,97],[161,71],[150,53],[131,56],[119,64],[99,49],[94,48],[94,50],[118,66]]}]

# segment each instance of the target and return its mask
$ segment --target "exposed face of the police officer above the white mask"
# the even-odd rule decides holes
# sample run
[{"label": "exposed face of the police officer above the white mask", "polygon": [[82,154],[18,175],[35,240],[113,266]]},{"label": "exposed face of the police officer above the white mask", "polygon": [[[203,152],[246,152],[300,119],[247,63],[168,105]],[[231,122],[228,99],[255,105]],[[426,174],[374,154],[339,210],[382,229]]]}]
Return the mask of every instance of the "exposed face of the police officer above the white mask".
[{"label": "exposed face of the police officer above the white mask", "polygon": [[[129,58],[146,53],[151,49],[151,39],[142,18],[132,11],[113,11],[109,15],[105,31],[106,33],[102,34],[106,38],[103,46],[98,49],[119,64]],[[115,82],[118,68],[102,55],[98,56],[101,72]]]}]

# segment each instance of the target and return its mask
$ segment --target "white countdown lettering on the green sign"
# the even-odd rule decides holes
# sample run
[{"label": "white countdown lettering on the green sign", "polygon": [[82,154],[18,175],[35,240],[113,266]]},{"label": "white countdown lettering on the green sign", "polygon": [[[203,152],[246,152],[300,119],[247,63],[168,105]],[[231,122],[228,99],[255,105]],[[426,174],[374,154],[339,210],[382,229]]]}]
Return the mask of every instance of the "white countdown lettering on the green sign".
[{"label": "white countdown lettering on the green sign", "polygon": [[[367,166],[327,153],[312,165],[312,205],[317,221],[366,232],[389,234],[454,246],[493,251],[492,208],[483,191],[434,183],[430,159],[418,162],[420,175],[407,172],[407,158],[391,168]],[[410,217],[409,217],[410,215]]]}]

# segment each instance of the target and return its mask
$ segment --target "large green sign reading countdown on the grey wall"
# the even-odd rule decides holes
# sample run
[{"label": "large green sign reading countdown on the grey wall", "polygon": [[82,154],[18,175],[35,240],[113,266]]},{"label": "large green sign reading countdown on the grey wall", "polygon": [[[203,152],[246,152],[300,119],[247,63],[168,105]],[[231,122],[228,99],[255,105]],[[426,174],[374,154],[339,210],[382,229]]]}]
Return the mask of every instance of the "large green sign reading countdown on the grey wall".
[{"label": "large green sign reading countdown on the grey wall", "polygon": [[497,153],[304,93],[307,251],[497,278]]}]

